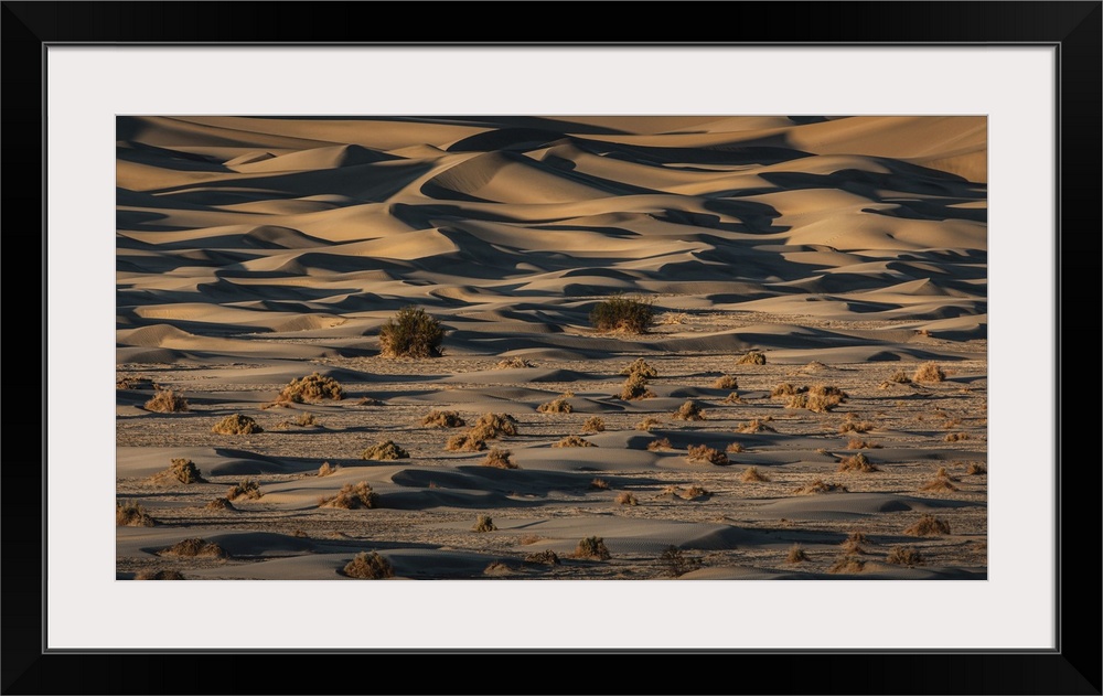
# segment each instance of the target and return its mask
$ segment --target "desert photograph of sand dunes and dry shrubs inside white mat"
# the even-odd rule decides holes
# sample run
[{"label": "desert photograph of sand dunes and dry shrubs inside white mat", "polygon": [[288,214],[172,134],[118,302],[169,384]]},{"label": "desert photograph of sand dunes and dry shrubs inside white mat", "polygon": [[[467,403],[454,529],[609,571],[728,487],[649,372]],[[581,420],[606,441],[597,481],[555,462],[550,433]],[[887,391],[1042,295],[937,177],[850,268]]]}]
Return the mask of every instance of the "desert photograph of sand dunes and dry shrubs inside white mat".
[{"label": "desert photograph of sand dunes and dry shrubs inside white mat", "polygon": [[987,578],[983,116],[116,144],[117,579]]}]

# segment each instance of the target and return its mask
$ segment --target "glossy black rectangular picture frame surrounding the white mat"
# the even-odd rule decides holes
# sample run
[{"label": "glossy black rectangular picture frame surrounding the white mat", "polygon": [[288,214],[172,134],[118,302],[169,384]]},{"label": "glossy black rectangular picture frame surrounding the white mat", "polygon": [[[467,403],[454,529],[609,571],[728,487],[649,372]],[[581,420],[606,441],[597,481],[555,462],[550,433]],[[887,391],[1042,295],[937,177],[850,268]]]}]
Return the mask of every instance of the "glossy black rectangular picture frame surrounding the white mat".
[{"label": "glossy black rectangular picture frame surrounding the white mat", "polygon": [[[524,11],[518,6],[502,6],[514,8],[511,15],[518,38],[502,40],[486,25],[457,31],[480,12],[468,3],[445,3],[432,10],[432,25],[442,28],[445,35],[432,41],[425,38],[425,24],[418,18],[424,7],[414,3],[388,4],[386,21],[381,19],[374,25],[362,21],[364,6],[370,3],[352,2],[4,1],[0,4],[6,58],[2,120],[7,137],[2,141],[2,173],[8,266],[15,272],[17,264],[19,267],[29,264],[24,254],[34,254],[43,269],[42,303],[25,299],[6,303],[6,323],[42,326],[43,345],[44,214],[43,233],[38,238],[29,232],[34,227],[33,219],[28,222],[23,217],[26,211],[44,211],[44,86],[49,79],[45,47],[51,44],[1047,44],[1056,46],[1059,55],[1058,132],[1054,133],[1059,159],[1058,364],[1053,366],[1058,384],[1058,409],[1053,417],[1059,515],[1056,650],[920,653],[452,650],[381,654],[257,651],[201,656],[45,652],[44,534],[40,538],[26,532],[44,524],[35,495],[43,492],[44,445],[36,451],[21,452],[9,442],[3,464],[7,485],[0,492],[6,523],[0,546],[3,561],[0,686],[4,694],[283,694],[307,693],[304,688],[312,688],[311,683],[317,684],[318,693],[389,690],[392,687],[378,686],[385,682],[373,676],[376,670],[408,670],[413,693],[1101,693],[1099,554],[1103,546],[1099,449],[1097,445],[1085,449],[1069,447],[1078,432],[1094,429],[1077,422],[1077,409],[1062,407],[1061,388],[1062,365],[1094,366],[1096,355],[1075,358],[1071,352],[1083,343],[1062,341],[1061,329],[1063,317],[1071,318],[1073,325],[1082,321],[1080,318],[1091,317],[1089,328],[1095,328],[1101,315],[1103,2],[641,3],[633,6],[632,11],[650,15],[645,21],[653,30],[646,38],[630,40],[612,39],[630,32],[591,18],[589,9],[583,12],[583,8],[592,6],[532,3]],[[587,14],[587,22],[571,19],[580,12]],[[371,7],[367,14],[372,14]],[[409,21],[400,21],[403,15]],[[527,25],[521,19],[525,15],[544,20]],[[707,19],[709,15],[714,19]],[[42,133],[42,139],[29,135],[33,132]],[[29,172],[42,175],[36,178]],[[19,228],[22,235],[17,237]],[[9,274],[11,278],[13,275]],[[1083,278],[1090,278],[1092,287],[1075,289]],[[32,307],[38,315],[24,317]],[[1088,342],[1094,347],[1094,341],[1093,336]],[[31,374],[25,367],[10,367],[2,377],[6,394],[44,393],[42,385],[49,379],[44,358],[42,375]],[[1086,383],[1089,389],[1101,384],[1099,379]],[[41,413],[44,442],[47,425],[44,408]],[[15,418],[6,418],[6,425],[13,427]],[[1097,426],[1096,419],[1094,427]],[[1068,475],[1062,467],[1065,451],[1074,453]],[[505,677],[503,665],[497,662],[502,657],[510,660],[511,670],[521,670],[528,678],[517,683]],[[289,678],[292,671],[288,670],[288,661],[299,661],[304,670],[310,670],[308,681]]]}]

